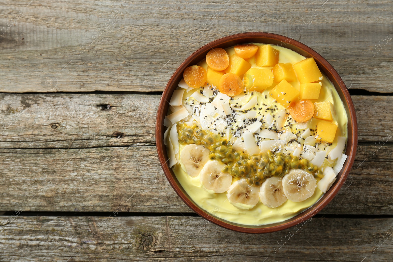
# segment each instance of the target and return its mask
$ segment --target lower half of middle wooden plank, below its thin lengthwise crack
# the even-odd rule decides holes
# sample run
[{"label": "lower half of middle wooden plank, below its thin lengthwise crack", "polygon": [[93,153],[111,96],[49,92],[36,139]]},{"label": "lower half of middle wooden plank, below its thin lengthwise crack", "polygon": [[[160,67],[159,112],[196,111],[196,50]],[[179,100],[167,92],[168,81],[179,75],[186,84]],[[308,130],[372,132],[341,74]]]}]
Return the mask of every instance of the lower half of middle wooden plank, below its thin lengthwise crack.
[{"label": "lower half of middle wooden plank, below its thin lengthwise crack", "polygon": [[[360,144],[348,182],[322,214],[393,214],[393,144]],[[156,147],[0,149],[0,211],[191,212]]]}]

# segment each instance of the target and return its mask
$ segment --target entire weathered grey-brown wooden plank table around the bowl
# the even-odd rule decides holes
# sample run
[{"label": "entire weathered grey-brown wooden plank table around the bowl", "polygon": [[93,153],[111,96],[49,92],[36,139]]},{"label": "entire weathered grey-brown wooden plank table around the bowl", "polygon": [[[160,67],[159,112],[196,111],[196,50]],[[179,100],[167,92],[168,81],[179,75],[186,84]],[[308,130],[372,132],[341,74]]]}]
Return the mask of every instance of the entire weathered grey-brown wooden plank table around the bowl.
[{"label": "entire weathered grey-brown wooden plank table around the bowl", "polygon": [[[0,261],[392,261],[392,7],[0,1]],[[349,87],[359,127],[336,198],[301,227],[265,235],[196,216],[163,175],[154,141],[173,71],[200,46],[245,31],[323,55]]]}]

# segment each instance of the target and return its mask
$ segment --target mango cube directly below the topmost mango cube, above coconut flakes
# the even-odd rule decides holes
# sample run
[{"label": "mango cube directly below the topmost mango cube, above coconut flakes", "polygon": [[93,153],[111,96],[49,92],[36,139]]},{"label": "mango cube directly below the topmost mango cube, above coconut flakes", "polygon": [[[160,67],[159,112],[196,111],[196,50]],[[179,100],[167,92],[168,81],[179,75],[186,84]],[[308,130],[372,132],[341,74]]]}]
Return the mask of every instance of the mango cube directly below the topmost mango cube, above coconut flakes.
[{"label": "mango cube directly below the topmost mango cube, above coconut flakes", "polygon": [[250,68],[244,78],[247,78],[247,83],[244,83],[244,86],[250,86],[258,92],[263,92],[273,84],[273,73],[267,69]]}]

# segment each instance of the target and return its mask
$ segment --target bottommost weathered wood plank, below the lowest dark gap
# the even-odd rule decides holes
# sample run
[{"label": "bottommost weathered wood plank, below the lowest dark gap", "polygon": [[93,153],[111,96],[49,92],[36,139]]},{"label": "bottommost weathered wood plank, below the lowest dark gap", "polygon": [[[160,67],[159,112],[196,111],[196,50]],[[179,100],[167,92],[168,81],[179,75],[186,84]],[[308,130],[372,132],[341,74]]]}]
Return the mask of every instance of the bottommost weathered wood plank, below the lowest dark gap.
[{"label": "bottommost weathered wood plank, below the lowest dark gap", "polygon": [[223,229],[199,217],[23,217],[22,214],[0,216],[1,223],[10,221],[0,234],[0,258],[4,262],[390,262],[393,248],[389,239],[392,218],[313,218],[285,231],[248,235]]}]

